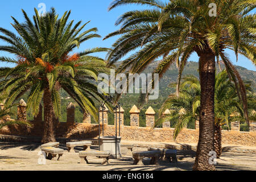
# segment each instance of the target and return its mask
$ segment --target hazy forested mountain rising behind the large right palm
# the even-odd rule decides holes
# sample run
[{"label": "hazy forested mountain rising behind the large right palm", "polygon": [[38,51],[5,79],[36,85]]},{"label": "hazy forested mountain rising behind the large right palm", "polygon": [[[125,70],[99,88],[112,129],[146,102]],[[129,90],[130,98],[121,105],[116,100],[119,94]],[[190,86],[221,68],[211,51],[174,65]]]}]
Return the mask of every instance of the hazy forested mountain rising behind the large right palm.
[{"label": "hazy forested mountain rising behind the large right palm", "polygon": [[[159,63],[159,61],[155,61],[154,63],[151,63],[147,69],[144,70],[144,73],[151,73],[154,71],[154,68]],[[195,75],[199,77],[198,72],[198,63],[190,61],[187,63],[187,65],[184,68],[183,76],[185,75]],[[223,70],[225,66],[221,64],[221,69]],[[251,81],[251,87],[253,89],[253,92],[256,91],[256,72],[250,71],[246,68],[236,66],[237,71],[240,73],[243,81]],[[220,71],[218,65],[216,65],[217,72]],[[123,109],[125,110],[125,123],[129,123],[129,110],[133,105],[137,105],[139,109],[141,109],[141,126],[145,125],[145,111],[149,106],[152,106],[152,108],[156,112],[156,118],[158,115],[158,110],[160,109],[162,103],[166,100],[166,98],[172,94],[175,93],[175,88],[172,88],[170,85],[171,82],[176,82],[177,80],[178,71],[176,68],[176,65],[171,65],[171,67],[168,69],[168,71],[164,74],[164,76],[159,81],[159,98],[157,100],[150,100],[146,104],[139,105],[139,95],[140,94],[126,94],[125,96],[121,97],[121,100],[119,102],[122,104]]]}]

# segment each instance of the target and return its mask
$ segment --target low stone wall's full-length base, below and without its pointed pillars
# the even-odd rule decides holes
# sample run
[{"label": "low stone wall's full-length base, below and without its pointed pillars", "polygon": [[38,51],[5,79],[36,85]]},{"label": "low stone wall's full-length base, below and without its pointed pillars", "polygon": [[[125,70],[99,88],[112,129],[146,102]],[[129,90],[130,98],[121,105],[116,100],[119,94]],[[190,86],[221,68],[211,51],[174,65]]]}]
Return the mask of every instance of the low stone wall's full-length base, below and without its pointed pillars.
[{"label": "low stone wall's full-length base, below and without its pointed pillars", "polygon": [[[3,135],[19,135],[42,137],[43,122],[32,122],[34,127],[28,129],[26,126],[6,126],[0,130]],[[121,127],[121,137],[123,140],[145,141],[145,142],[177,142],[177,143],[197,143],[199,130],[183,129],[176,141],[173,139],[174,129],[172,128],[151,128],[137,126]],[[114,136],[115,127],[104,125],[104,135]],[[58,138],[88,139],[98,137],[98,125],[88,123],[58,123],[56,129]],[[232,144],[237,146],[255,146],[256,132],[226,131],[222,130],[222,144]]]}]

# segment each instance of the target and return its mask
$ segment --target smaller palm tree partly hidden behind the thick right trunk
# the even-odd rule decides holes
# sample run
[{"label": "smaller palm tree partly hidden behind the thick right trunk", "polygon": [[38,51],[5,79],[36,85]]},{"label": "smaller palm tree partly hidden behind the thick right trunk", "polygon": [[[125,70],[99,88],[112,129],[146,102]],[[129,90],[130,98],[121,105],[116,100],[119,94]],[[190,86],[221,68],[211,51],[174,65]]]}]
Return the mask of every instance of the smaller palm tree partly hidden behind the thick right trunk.
[{"label": "smaller palm tree partly hidden behind the thick right trunk", "polygon": [[[200,110],[200,81],[193,75],[185,76],[181,82],[181,90],[179,97],[170,95],[160,109],[160,118],[158,123],[171,121],[176,123],[174,130],[174,139],[188,123],[199,120]],[[243,116],[242,105],[237,97],[236,87],[229,80],[226,71],[222,71],[215,78],[215,93],[214,93],[214,151],[217,158],[221,155],[221,127],[230,122],[242,121]],[[250,85],[246,85],[247,92],[250,92]],[[250,98],[250,97],[249,97]],[[249,99],[248,107],[251,108],[255,101]],[[171,114],[162,113],[166,109],[172,110]],[[181,112],[182,110],[182,112]]]}]

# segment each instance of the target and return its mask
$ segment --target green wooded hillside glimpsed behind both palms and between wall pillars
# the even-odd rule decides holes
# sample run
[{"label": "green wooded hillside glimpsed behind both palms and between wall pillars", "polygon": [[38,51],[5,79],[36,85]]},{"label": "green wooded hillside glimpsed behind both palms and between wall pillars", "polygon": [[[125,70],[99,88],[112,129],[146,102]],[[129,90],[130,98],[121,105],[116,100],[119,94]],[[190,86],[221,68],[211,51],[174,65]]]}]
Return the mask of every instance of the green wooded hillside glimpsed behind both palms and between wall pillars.
[{"label": "green wooded hillside glimpsed behind both palms and between wall pillars", "polygon": [[[155,61],[154,63],[150,64],[149,67],[144,71],[145,73],[151,73],[152,70],[155,68],[156,64],[158,64],[158,61]],[[224,66],[223,66],[224,67]],[[218,66],[216,65],[217,71],[219,71]],[[246,68],[243,67],[236,67],[238,72],[240,72],[241,77],[243,80],[249,80],[252,82],[252,88],[255,92],[256,90],[256,72],[255,71],[250,71]],[[199,76],[199,73],[197,72],[198,69],[198,63],[196,62],[189,62],[186,67],[184,68],[183,76],[184,75],[195,75]],[[164,100],[168,97],[169,94],[174,93],[175,89],[171,88],[168,86],[170,82],[176,82],[177,79],[177,68],[175,65],[172,65],[170,69],[164,74],[163,78],[159,82],[159,98],[158,100],[151,100],[148,101],[148,103],[143,104],[142,106],[139,105],[138,100],[139,100],[139,95],[140,94],[126,94],[121,97],[121,102],[123,109],[125,110],[125,125],[129,125],[130,123],[130,114],[129,111],[133,105],[137,105],[139,109],[141,109],[141,118],[140,118],[140,125],[141,126],[146,126],[146,121],[145,121],[145,111],[149,106],[152,106],[153,109],[156,112],[156,118],[158,116],[158,110]],[[25,94],[22,97],[25,101],[27,101],[27,94]],[[61,122],[65,122],[67,119],[67,113],[66,113],[66,107],[69,102],[73,102],[75,104],[75,101],[72,98],[68,97],[68,94],[64,92],[64,90],[61,90]],[[13,109],[14,113],[16,113],[16,108]],[[81,122],[82,121],[82,111],[79,106],[76,107],[76,117],[75,120],[76,122]],[[16,116],[13,115],[13,118]],[[32,114],[30,111],[28,111],[28,119],[33,119]],[[94,122],[94,121],[92,121]],[[114,123],[114,114],[109,114],[109,124]]]}]

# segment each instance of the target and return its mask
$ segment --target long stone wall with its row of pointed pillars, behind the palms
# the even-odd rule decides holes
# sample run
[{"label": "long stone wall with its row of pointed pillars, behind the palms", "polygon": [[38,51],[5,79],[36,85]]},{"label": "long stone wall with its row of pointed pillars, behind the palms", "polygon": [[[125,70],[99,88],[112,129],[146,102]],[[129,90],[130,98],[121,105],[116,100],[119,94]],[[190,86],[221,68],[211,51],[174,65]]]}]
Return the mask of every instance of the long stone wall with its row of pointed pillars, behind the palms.
[{"label": "long stone wall with its row of pointed pillars, behind the palms", "polygon": [[[23,105],[22,105],[23,104]],[[20,102],[20,105],[24,107],[24,102]],[[20,112],[20,119],[26,119],[26,110],[18,110]],[[75,109],[72,103],[69,103],[68,115],[69,119],[66,123],[56,123],[56,137],[57,138],[74,138],[74,139],[88,139],[88,138],[97,138],[98,137],[98,125],[91,124],[90,119],[86,123],[74,123],[75,118]],[[104,110],[104,135],[105,136],[114,136],[115,127],[113,125],[108,125],[107,112],[108,108]],[[169,114],[170,111],[166,111],[166,114]],[[102,112],[101,112],[102,114]],[[198,129],[186,129],[184,128],[181,133],[178,135],[177,139],[174,141],[173,133],[174,129],[170,128],[170,122],[167,122],[166,125],[163,125],[163,128],[154,128],[153,123],[154,110],[148,108],[147,115],[147,127],[138,127],[139,126],[139,109],[136,106],[130,110],[131,120],[138,119],[137,122],[134,121],[135,125],[131,123],[131,126],[123,126],[121,124],[121,137],[123,140],[133,140],[133,141],[145,141],[145,142],[177,142],[177,143],[197,143],[199,138]],[[106,115],[106,116],[105,116]],[[38,116],[39,117],[39,116]],[[123,121],[123,109],[121,112],[121,117]],[[42,137],[43,135],[43,121],[41,119],[35,119],[31,121],[32,127],[28,128],[27,126],[6,126],[0,130],[2,135],[17,135],[17,136],[28,136],[28,137]],[[118,121],[119,121],[119,112],[118,112]],[[101,122],[102,123],[102,122]],[[256,131],[255,123],[251,123],[250,132],[238,131],[239,123],[234,123],[236,126],[232,125],[232,130],[226,131],[222,130],[222,144],[232,144],[232,145],[245,145],[245,146],[256,146]],[[238,125],[238,126],[237,126]],[[102,129],[102,127],[101,127]]]}]

